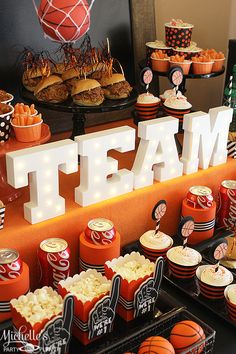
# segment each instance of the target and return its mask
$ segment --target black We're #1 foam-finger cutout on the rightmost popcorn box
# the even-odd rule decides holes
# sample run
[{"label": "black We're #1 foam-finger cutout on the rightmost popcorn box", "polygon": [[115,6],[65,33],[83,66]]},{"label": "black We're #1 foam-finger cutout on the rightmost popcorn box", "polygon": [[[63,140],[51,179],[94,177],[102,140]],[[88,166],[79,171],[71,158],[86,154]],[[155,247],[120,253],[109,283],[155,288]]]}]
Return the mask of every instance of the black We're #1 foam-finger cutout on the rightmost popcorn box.
[{"label": "black We're #1 foam-finger cutout on the rightmost popcorn box", "polygon": [[139,317],[154,311],[163,278],[164,258],[156,261],[154,277],[148,278],[136,290],[134,295],[134,317]]}]

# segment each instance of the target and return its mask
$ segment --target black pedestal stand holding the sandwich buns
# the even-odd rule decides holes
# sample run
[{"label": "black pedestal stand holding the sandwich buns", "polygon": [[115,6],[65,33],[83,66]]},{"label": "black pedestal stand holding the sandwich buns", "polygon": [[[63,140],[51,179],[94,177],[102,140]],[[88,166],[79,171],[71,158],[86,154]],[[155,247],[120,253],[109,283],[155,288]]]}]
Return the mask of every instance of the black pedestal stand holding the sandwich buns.
[{"label": "black pedestal stand holding the sandwich buns", "polygon": [[37,106],[51,109],[54,111],[72,113],[73,129],[71,139],[74,139],[75,136],[85,134],[85,114],[120,111],[132,106],[137,100],[137,92],[135,90],[133,90],[131,92],[131,95],[126,99],[106,99],[99,106],[78,106],[73,103],[72,99],[68,99],[66,102],[63,103],[40,102],[35,98],[32,92],[27,91],[24,87],[21,87],[20,95],[27,102],[33,102]]}]

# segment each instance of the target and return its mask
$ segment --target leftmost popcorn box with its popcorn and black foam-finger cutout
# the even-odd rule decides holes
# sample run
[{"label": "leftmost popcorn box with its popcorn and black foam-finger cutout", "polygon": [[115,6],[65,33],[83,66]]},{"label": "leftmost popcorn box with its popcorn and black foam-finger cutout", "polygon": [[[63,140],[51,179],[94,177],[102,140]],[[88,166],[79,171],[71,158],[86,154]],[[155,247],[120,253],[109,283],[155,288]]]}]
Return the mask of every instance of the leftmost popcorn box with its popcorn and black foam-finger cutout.
[{"label": "leftmost popcorn box with its popcorn and black foam-finger cutout", "polygon": [[11,300],[14,338],[23,353],[68,353],[74,300],[51,287]]}]

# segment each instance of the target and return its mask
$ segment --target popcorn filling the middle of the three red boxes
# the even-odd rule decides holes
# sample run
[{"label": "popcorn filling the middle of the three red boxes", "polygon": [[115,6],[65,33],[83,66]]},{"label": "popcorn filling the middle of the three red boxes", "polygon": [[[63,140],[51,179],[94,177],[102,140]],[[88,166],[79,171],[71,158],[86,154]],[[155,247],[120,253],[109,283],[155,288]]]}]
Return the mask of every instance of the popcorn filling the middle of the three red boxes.
[{"label": "popcorn filling the middle of the three red boxes", "polygon": [[95,270],[88,269],[73,278],[69,277],[60,285],[83,303],[106,294],[111,289],[111,281]]}]

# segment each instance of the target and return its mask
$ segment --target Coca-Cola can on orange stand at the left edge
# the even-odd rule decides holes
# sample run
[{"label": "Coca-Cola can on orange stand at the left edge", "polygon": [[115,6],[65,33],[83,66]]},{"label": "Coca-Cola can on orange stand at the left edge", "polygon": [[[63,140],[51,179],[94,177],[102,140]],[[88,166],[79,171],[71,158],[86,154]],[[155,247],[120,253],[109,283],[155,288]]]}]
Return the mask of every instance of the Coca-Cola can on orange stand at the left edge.
[{"label": "Coca-Cola can on orange stand at the left edge", "polygon": [[0,248],[0,282],[19,277],[22,270],[19,252],[10,248]]}]

